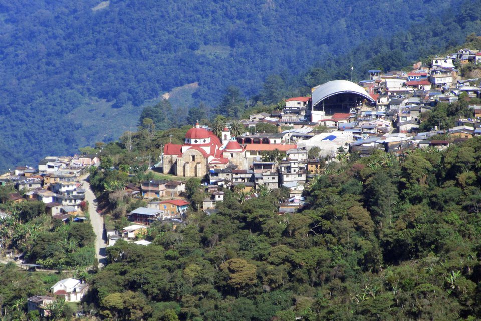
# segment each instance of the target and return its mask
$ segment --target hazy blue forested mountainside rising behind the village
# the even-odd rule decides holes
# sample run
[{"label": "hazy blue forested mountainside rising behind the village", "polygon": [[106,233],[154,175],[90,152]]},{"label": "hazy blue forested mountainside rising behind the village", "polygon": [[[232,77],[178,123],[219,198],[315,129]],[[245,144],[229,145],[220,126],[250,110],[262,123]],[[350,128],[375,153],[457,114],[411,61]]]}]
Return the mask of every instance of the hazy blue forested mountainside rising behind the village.
[{"label": "hazy blue forested mountainside rising behind the village", "polygon": [[196,105],[174,106],[174,123],[187,122],[179,108],[216,107],[228,86],[269,103],[349,78],[351,64],[355,79],[368,67],[405,66],[480,33],[479,7],[461,0],[4,2],[0,169],[114,140],[136,126],[139,106],[188,83],[199,84]]}]

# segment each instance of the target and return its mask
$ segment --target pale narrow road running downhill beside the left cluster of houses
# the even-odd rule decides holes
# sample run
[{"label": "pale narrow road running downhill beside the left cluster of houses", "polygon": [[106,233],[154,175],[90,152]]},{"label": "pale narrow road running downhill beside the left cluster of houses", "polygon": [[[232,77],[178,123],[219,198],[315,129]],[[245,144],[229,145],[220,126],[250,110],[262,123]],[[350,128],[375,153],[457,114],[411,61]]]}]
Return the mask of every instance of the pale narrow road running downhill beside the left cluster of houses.
[{"label": "pale narrow road running downhill beside the left cluster of houses", "polygon": [[85,189],[85,200],[89,202],[90,224],[95,233],[95,255],[99,260],[99,268],[107,263],[105,259],[105,249],[107,247],[104,239],[104,219],[97,213],[97,205],[94,203],[95,195],[90,189],[88,182],[89,175],[82,177],[82,186]]}]

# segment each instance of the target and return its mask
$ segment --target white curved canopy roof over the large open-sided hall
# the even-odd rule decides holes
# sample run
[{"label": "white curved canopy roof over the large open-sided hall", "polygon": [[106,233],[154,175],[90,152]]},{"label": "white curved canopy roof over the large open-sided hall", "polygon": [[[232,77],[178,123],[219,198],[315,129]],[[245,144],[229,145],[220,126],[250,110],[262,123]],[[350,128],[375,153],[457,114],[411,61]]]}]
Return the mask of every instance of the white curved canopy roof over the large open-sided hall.
[{"label": "white curved canopy roof over the large open-sided hall", "polygon": [[337,94],[357,94],[370,102],[374,102],[364,88],[348,80],[332,80],[319,85],[312,92],[312,106],[316,106],[322,100]]}]

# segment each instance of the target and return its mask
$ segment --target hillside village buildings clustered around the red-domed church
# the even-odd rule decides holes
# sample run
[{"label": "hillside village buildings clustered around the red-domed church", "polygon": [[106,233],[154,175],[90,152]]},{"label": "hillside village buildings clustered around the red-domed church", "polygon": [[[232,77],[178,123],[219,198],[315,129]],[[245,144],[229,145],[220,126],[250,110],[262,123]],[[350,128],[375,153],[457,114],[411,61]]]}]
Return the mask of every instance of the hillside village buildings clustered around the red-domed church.
[{"label": "hillside village buildings clustered around the red-domed church", "polygon": [[[226,189],[257,198],[262,190],[285,188],[286,199],[279,202],[279,214],[301,210],[306,201],[303,191],[310,178],[326,170],[326,164],[339,162],[357,153],[368,156],[382,150],[402,155],[416,148],[445,149],[452,143],[481,135],[481,104],[470,104],[472,117],[460,118],[446,128],[442,122],[429,131],[420,131],[423,114],[441,102],[453,103],[480,98],[479,78],[461,79],[455,66],[480,64],[481,52],[462,49],[447,57],[421,62],[412,71],[369,70],[369,79],[358,84],[335,80],[312,89],[310,97],[286,99],[282,110],[252,114],[240,120],[243,130],[232,136],[229,123],[219,133],[198,123],[189,129],[183,144],[167,143],[161,161],[154,169],[172,180],[148,179],[122,186],[125,195],[145,200],[146,206],[127,213],[130,225],[122,229],[106,226],[107,246],[118,240],[148,245],[144,236],[154,222],[168,222],[175,228],[185,224],[189,205],[186,178],[203,180],[209,195],[202,202],[206,214],[216,211]],[[276,133],[256,130],[270,124]],[[439,138],[442,137],[442,138]],[[85,189],[81,183],[89,168],[100,165],[95,154],[46,157],[36,167],[18,166],[0,175],[0,185],[13,185],[4,202],[41,201],[53,219],[88,221]],[[98,212],[102,212],[98,208]],[[0,211],[0,219],[8,217]],[[2,244],[0,244],[2,245]],[[3,248],[7,259],[21,259],[22,253]],[[30,262],[36,266],[36,262]],[[33,264],[32,264],[33,263]],[[55,297],[78,302],[88,285],[65,279],[51,288],[52,296],[39,293],[28,299],[28,310],[48,316],[48,304]]]}]

